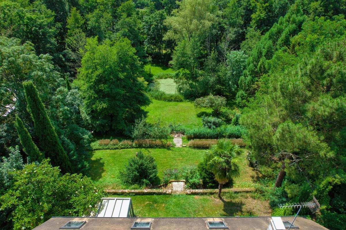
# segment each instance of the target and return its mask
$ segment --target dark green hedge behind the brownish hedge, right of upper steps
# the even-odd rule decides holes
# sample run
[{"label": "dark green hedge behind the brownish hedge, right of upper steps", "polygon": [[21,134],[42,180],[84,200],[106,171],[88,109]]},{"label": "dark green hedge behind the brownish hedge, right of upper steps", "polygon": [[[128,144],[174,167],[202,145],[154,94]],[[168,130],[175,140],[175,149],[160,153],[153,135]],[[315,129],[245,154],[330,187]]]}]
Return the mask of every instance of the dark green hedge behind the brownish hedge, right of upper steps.
[{"label": "dark green hedge behind the brownish hedge, right of upper steps", "polygon": [[191,139],[220,139],[220,138],[241,138],[246,133],[243,126],[226,125],[215,129],[205,127],[186,130],[186,137]]}]

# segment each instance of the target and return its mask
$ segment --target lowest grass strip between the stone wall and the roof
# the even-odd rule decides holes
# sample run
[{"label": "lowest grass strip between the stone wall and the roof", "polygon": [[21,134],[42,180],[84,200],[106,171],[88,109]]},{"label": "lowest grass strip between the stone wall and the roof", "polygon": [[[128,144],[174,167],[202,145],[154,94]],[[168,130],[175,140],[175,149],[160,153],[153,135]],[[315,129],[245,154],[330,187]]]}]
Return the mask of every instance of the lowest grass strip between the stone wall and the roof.
[{"label": "lowest grass strip between the stone wall and the roof", "polygon": [[[115,195],[114,197],[119,197]],[[255,199],[252,193],[217,195],[132,195],[135,215],[139,217],[231,217],[268,216],[268,201]]]}]

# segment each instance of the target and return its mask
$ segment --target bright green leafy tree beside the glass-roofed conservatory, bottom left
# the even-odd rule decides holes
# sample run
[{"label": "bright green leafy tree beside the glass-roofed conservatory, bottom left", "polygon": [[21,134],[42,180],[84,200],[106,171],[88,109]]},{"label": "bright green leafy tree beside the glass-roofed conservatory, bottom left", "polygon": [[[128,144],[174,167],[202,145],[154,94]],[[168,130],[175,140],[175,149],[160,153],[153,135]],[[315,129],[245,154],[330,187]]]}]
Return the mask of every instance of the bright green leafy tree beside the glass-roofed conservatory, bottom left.
[{"label": "bright green leafy tree beside the glass-roofed conservatory, bottom left", "polygon": [[89,216],[103,192],[81,174],[61,175],[47,160],[28,164],[14,173],[13,184],[2,195],[1,209],[12,209],[13,229],[32,229],[54,216]]}]

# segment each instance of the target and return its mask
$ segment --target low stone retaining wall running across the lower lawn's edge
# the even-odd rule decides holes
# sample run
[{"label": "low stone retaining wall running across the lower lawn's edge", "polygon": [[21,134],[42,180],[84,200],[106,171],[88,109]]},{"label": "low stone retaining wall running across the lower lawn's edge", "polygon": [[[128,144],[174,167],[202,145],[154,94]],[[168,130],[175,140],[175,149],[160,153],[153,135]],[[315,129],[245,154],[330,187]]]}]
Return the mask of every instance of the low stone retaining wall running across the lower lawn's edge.
[{"label": "low stone retaining wall running across the lower lawn's edge", "polygon": [[[110,194],[172,194],[171,189],[106,189],[104,190]],[[216,194],[218,189],[187,189],[181,193],[185,194]],[[240,188],[240,189],[222,189],[222,192],[253,192],[254,188]]]}]

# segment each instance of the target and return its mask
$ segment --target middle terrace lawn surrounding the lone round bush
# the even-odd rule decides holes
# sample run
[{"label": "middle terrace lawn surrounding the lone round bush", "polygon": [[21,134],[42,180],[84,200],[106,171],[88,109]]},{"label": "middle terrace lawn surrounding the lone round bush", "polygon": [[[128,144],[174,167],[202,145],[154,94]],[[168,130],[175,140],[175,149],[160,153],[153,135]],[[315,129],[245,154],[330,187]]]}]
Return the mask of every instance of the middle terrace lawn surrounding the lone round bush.
[{"label": "middle terrace lawn surrounding the lone round bush", "polygon": [[155,157],[158,170],[158,181],[163,171],[169,168],[180,168],[184,165],[197,165],[204,157],[205,150],[191,148],[128,148],[123,150],[97,150],[92,152],[90,176],[93,181],[108,189],[126,189],[121,184],[120,170],[125,168],[128,159],[136,152],[142,151]]}]

